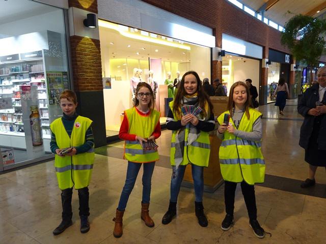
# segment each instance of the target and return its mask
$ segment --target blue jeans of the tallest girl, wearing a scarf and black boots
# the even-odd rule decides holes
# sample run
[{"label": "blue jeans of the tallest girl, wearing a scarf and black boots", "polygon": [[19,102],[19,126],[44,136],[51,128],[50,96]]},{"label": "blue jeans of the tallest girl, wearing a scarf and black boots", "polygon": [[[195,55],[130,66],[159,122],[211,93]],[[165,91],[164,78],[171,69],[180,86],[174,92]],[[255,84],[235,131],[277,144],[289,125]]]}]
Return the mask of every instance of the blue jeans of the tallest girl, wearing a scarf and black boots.
[{"label": "blue jeans of the tallest girl, wearing a scarf and black boots", "polygon": [[[177,202],[178,195],[180,192],[181,182],[184,176],[186,165],[180,165],[177,170],[175,170],[175,166],[173,166],[173,172],[171,177],[171,202]],[[202,202],[203,201],[203,193],[204,193],[204,167],[197,166],[192,164],[192,174],[194,180],[194,189],[195,189],[195,201]]]}]

